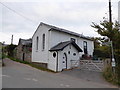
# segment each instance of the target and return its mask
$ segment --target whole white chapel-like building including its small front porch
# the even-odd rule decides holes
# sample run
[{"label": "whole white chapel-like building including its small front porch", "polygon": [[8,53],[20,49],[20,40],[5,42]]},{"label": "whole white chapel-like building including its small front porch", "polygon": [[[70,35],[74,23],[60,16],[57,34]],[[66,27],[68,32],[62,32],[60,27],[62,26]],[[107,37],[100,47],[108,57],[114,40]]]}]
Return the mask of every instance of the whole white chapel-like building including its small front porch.
[{"label": "whole white chapel-like building including its small front porch", "polygon": [[71,69],[72,63],[83,54],[92,56],[93,50],[94,42],[88,37],[42,22],[32,37],[32,62],[55,72]]}]

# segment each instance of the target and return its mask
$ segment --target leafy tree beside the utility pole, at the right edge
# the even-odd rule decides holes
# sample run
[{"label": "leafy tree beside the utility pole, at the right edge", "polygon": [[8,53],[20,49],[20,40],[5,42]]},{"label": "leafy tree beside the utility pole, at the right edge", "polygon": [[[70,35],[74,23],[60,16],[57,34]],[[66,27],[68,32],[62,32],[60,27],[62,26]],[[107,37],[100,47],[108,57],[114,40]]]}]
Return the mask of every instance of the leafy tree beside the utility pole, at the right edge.
[{"label": "leafy tree beside the utility pole, at the right edge", "polygon": [[[107,20],[103,20],[100,24],[92,23],[93,28],[97,29],[98,34],[101,36],[107,36],[110,41],[113,42],[114,56],[116,62],[116,71],[118,77],[120,77],[120,24],[118,21],[114,23]],[[118,81],[120,78],[118,78]],[[120,81],[119,81],[120,85]]]}]

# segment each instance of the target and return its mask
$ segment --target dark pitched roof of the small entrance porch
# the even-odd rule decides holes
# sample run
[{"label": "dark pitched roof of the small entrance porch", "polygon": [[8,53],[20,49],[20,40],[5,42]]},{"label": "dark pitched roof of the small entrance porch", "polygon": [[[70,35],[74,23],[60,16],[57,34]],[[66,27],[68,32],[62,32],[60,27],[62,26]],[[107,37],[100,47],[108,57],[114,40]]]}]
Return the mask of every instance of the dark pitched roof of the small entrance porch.
[{"label": "dark pitched roof of the small entrance porch", "polygon": [[78,52],[82,52],[82,49],[74,41],[66,41],[66,42],[58,43],[57,45],[52,47],[49,51],[63,50],[65,47],[67,47],[70,44],[72,44],[78,50]]}]

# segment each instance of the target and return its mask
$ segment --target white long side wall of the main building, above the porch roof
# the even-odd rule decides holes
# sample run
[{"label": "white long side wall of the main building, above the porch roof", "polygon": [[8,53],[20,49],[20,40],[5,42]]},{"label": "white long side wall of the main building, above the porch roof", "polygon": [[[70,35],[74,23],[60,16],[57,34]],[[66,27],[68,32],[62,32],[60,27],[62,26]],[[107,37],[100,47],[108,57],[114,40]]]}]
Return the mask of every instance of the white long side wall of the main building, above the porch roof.
[{"label": "white long side wall of the main building, above the porch roof", "polygon": [[94,42],[93,41],[83,39],[83,38],[80,38],[80,37],[76,37],[76,36],[66,34],[66,33],[63,33],[63,32],[58,32],[58,31],[51,31],[49,49],[51,47],[57,45],[60,42],[69,41],[71,38],[76,39],[76,43],[83,50],[83,52],[80,53],[80,56],[82,56],[82,54],[84,54],[83,41],[87,42],[88,54],[93,55],[93,50],[94,50]]}]

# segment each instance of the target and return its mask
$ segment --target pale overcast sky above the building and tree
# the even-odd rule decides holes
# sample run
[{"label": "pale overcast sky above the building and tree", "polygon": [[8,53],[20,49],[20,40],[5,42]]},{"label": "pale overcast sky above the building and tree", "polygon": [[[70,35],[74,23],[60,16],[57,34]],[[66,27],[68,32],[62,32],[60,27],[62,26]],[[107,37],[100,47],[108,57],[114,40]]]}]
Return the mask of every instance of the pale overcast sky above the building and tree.
[{"label": "pale overcast sky above the building and tree", "polygon": [[[9,1],[9,2],[8,2]],[[85,36],[99,37],[92,22],[108,18],[109,0],[2,0],[0,4],[0,42],[18,44],[31,38],[40,22]],[[113,20],[118,19],[118,1],[112,1]]]}]

